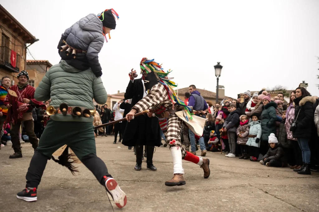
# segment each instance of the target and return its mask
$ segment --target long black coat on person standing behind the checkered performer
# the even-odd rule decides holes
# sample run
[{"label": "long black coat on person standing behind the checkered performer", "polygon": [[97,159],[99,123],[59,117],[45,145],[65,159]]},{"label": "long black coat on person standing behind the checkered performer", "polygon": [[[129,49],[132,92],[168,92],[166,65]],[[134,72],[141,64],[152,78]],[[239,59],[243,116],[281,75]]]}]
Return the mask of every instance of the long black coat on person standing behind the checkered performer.
[{"label": "long black coat on person standing behind the checkered performer", "polygon": [[[131,106],[143,98],[144,86],[142,79],[129,82],[124,94],[125,99],[132,99]],[[141,115],[126,124],[122,144],[133,147],[138,145],[149,145],[159,147],[161,144],[159,120],[157,117],[149,118]]]}]

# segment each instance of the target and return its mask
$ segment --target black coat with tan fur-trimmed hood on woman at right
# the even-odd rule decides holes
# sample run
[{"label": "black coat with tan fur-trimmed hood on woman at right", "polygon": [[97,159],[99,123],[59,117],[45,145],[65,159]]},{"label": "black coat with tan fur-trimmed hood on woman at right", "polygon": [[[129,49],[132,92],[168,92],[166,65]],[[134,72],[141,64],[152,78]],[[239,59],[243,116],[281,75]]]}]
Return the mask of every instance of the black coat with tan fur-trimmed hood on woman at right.
[{"label": "black coat with tan fur-trimmed hood on woman at right", "polygon": [[[312,124],[314,123],[314,113],[312,105],[315,103],[315,97],[306,96],[301,99],[294,99],[295,102],[295,119],[297,128],[293,131],[294,138],[310,138]],[[298,115],[299,113],[299,115]],[[298,117],[297,117],[298,116]]]}]

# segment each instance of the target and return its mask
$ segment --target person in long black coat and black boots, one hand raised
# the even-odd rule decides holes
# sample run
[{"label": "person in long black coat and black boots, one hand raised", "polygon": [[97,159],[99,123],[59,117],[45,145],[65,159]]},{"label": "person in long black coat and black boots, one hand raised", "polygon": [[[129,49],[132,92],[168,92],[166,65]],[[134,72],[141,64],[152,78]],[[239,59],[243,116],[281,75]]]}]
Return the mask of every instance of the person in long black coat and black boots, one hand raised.
[{"label": "person in long black coat and black boots, one hand raised", "polygon": [[[132,99],[131,105],[134,106],[143,97],[146,96],[147,90],[151,89],[149,84],[144,85],[142,78],[134,79],[137,77],[135,71],[129,74],[130,82],[126,88],[124,94],[125,99]],[[143,145],[146,145],[146,167],[151,171],[156,171],[156,167],[153,165],[153,153],[154,146],[159,147],[161,143],[159,121],[156,117],[147,117],[146,115],[136,117],[136,119],[127,123],[124,136],[123,144],[125,146],[135,146],[136,152],[136,166],[134,170],[142,170],[142,156],[143,156]]]}]

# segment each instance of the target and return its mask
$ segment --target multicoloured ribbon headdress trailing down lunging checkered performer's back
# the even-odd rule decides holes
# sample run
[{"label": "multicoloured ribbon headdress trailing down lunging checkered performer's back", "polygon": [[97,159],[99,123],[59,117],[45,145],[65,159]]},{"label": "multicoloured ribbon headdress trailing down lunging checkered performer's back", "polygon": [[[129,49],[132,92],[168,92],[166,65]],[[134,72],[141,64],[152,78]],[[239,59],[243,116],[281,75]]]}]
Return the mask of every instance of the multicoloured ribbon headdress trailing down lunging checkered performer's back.
[{"label": "multicoloured ribbon headdress trailing down lunging checkered performer's back", "polygon": [[159,65],[159,63],[155,62],[154,59],[148,60],[147,58],[143,58],[140,62],[140,67],[141,67],[141,74],[143,72],[150,73],[154,72],[156,77],[159,80],[159,83],[164,85],[168,92],[168,97],[173,103],[173,108],[174,104],[177,104],[181,107],[184,108],[184,111],[186,112],[185,114],[185,119],[188,121],[189,119],[193,119],[190,113],[190,108],[185,105],[185,103],[182,101],[182,99],[177,97],[176,92],[174,91],[173,87],[177,87],[171,79],[174,79],[174,77],[169,78],[168,74],[171,73],[172,71],[169,69],[167,72],[164,71],[162,68],[162,64]]}]

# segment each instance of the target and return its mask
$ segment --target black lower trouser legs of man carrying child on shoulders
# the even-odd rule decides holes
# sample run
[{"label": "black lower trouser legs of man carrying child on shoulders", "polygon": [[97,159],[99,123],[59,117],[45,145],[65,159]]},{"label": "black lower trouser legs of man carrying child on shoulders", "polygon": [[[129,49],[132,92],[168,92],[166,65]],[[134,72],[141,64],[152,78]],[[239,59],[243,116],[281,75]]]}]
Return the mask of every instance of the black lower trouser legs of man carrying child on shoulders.
[{"label": "black lower trouser legs of man carrying child on shoulders", "polygon": [[[45,166],[47,165],[49,157],[35,151],[30,161],[28,172],[26,173],[26,188],[38,188]],[[82,158],[82,163],[88,168],[96,177],[96,179],[104,185],[104,176],[112,177],[108,174],[108,169],[105,163],[96,156],[96,154],[88,154]]]}]

